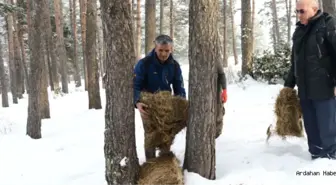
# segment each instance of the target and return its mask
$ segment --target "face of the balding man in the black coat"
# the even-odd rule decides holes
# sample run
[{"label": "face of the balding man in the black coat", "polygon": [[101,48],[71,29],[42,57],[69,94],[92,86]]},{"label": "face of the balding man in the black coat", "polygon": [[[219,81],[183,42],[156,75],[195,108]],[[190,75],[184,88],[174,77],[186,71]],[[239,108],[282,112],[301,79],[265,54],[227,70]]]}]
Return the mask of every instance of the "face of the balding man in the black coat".
[{"label": "face of the balding man in the black coat", "polygon": [[308,24],[308,20],[316,14],[318,9],[311,4],[309,1],[302,1],[296,4],[296,14],[301,24]]}]

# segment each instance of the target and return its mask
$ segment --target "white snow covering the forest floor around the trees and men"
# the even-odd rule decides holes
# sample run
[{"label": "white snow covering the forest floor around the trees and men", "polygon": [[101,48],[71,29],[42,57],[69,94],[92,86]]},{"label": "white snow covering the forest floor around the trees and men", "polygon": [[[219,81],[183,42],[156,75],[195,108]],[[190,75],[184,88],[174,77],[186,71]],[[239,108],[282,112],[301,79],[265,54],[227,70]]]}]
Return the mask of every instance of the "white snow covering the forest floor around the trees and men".
[{"label": "white snow covering the forest floor around the trees and men", "polygon": [[[188,78],[188,66],[183,66]],[[306,139],[278,137],[265,143],[266,129],[274,123],[273,105],[281,85],[266,85],[251,79],[228,86],[223,134],[216,142],[217,180],[209,181],[185,172],[186,185],[331,185],[336,161],[311,161]],[[18,105],[0,107],[0,185],[105,185],[104,108],[88,110],[82,89],[54,99],[51,119],[43,120],[42,139],[25,135],[27,96]],[[11,96],[10,96],[11,97]],[[11,102],[11,101],[10,101]],[[136,111],[137,151],[145,160],[143,128]],[[185,130],[172,150],[183,162]],[[297,172],[320,172],[319,176]]]}]

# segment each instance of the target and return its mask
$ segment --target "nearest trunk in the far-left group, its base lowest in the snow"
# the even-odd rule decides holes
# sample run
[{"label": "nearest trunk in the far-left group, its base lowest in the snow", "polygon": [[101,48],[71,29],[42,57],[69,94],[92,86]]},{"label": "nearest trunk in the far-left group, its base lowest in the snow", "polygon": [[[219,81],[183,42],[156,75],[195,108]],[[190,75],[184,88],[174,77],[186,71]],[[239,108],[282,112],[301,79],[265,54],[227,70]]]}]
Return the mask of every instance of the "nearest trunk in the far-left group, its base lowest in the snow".
[{"label": "nearest trunk in the far-left group, its base lowest in the snow", "polygon": [[44,10],[47,6],[46,0],[29,0],[30,21],[29,24],[29,47],[31,50],[30,60],[30,87],[28,97],[28,119],[27,135],[33,139],[40,139],[41,134],[41,113],[40,94],[44,66]]}]

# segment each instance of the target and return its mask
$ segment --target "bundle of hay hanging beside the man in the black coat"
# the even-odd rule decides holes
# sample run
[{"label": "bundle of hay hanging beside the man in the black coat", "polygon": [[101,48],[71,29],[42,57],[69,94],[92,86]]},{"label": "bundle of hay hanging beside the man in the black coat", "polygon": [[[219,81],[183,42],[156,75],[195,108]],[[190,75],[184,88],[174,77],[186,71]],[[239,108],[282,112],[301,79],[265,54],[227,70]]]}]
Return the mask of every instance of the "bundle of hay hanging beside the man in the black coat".
[{"label": "bundle of hay hanging beside the man in the black coat", "polygon": [[287,87],[281,89],[275,102],[274,112],[277,119],[276,126],[274,131],[271,130],[272,125],[267,128],[267,140],[273,132],[283,139],[286,136],[303,136],[300,100],[295,89]]}]

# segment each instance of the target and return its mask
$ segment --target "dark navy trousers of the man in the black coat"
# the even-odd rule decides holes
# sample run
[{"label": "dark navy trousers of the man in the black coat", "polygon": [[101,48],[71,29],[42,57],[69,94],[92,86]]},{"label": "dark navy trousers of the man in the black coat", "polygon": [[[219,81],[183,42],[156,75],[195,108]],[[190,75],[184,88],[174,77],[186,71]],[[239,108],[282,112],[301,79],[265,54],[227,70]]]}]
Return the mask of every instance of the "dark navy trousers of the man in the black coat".
[{"label": "dark navy trousers of the man in the black coat", "polygon": [[336,99],[301,99],[300,104],[312,158],[335,158]]}]

